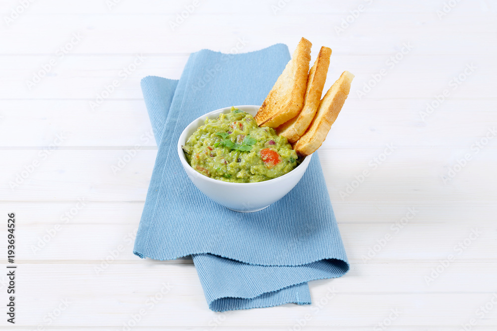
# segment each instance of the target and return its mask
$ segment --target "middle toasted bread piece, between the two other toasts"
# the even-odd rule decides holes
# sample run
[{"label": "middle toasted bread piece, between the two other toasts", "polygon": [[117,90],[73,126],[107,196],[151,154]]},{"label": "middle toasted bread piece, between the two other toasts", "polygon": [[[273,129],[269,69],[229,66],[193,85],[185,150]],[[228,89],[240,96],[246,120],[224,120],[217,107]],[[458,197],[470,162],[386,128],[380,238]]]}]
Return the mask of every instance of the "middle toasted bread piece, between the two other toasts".
[{"label": "middle toasted bread piece, between the two other toasts", "polygon": [[318,110],[323,87],[325,86],[326,74],[328,73],[328,66],[330,66],[330,56],[331,49],[325,46],[321,47],[314,66],[309,70],[302,111],[299,115],[276,129],[278,134],[286,137],[289,142],[299,140],[300,136],[306,132]]}]

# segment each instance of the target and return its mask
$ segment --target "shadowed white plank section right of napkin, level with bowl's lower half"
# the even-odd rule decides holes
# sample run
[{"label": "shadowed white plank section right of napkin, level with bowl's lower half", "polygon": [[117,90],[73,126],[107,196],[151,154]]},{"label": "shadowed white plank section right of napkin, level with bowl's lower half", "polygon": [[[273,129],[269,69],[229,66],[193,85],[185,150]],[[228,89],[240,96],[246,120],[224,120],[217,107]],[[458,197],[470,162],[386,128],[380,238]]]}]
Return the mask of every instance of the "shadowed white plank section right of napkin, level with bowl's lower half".
[{"label": "shadowed white plank section right of napkin, level with bowl's lower half", "polygon": [[[480,150],[475,154],[469,147],[430,151],[399,148],[391,156],[382,157],[383,152],[380,150],[378,154],[376,150],[369,151],[369,156],[362,154],[363,161],[357,160],[359,153],[352,150],[321,153],[325,155],[321,164],[331,201],[405,201],[409,205],[417,201],[454,201],[459,194],[465,197],[460,200],[463,203],[494,199],[490,188],[497,179],[490,175],[490,168],[497,155],[493,150]],[[465,167],[456,167],[458,160],[467,154],[471,160]],[[487,157],[494,161],[483,161]],[[380,161],[380,158],[385,161]],[[485,182],[480,181],[480,176],[486,178]],[[479,189],[470,188],[476,183],[482,185],[485,196],[477,192]]]}]

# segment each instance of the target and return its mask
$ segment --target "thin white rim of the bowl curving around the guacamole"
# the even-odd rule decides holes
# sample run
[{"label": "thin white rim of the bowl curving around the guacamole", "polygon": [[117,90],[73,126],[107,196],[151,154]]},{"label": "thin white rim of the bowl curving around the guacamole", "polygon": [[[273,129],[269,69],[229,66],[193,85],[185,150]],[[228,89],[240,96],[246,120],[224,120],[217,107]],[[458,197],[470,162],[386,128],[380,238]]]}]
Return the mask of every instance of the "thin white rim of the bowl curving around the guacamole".
[{"label": "thin white rim of the bowl curving around the guacamole", "polygon": [[[179,135],[179,138],[178,138],[178,143],[177,143],[177,151],[178,151],[178,157],[179,157],[179,161],[181,162],[181,164],[183,165],[183,169],[186,171],[190,171],[191,173],[195,174],[196,176],[202,176],[202,177],[199,177],[199,178],[202,178],[204,180],[207,180],[208,182],[211,182],[211,183],[215,183],[215,184],[218,184],[218,185],[225,185],[225,186],[244,186],[244,187],[247,187],[247,186],[254,186],[254,185],[265,185],[265,184],[273,184],[273,183],[278,183],[280,181],[283,181],[285,180],[286,178],[289,177],[289,175],[291,176],[292,173],[293,175],[296,175],[295,171],[298,170],[300,167],[303,167],[301,169],[301,171],[304,171],[307,170],[307,167],[309,165],[309,162],[311,162],[311,157],[312,157],[312,154],[311,155],[307,155],[305,158],[304,158],[304,161],[302,161],[302,163],[300,163],[296,168],[294,168],[293,170],[291,170],[290,172],[282,175],[282,176],[279,176],[279,177],[276,177],[276,178],[273,178],[273,179],[269,179],[267,181],[262,181],[262,182],[255,182],[255,183],[232,183],[232,182],[225,182],[225,181],[220,181],[218,179],[214,179],[214,178],[210,178],[210,177],[207,177],[205,175],[202,175],[200,174],[199,172],[195,171],[190,164],[188,164],[188,162],[186,161],[186,157],[184,155],[184,151],[183,149],[181,148],[181,140],[182,138],[184,138],[184,140],[186,141],[186,131],[189,130],[191,128],[191,126],[199,121],[199,120],[202,120],[204,119],[205,121],[205,118],[207,118],[208,116],[211,116],[211,115],[214,115],[214,114],[221,114],[223,112],[226,112],[227,110],[228,111],[231,111],[231,107],[235,107],[235,108],[239,108],[239,107],[256,107],[257,109],[260,108],[260,106],[257,106],[257,105],[239,105],[239,106],[229,106],[229,107],[224,107],[224,108],[220,108],[220,109],[216,109],[216,110],[213,110],[212,112],[209,112],[209,113],[206,113],[202,116],[199,116],[197,117],[195,120],[191,121],[190,124],[188,124],[186,126],[186,128],[183,129],[183,131],[181,132],[181,134]],[[240,108],[239,108],[240,109]],[[203,121],[202,121],[203,122]],[[202,125],[202,124],[201,124]],[[200,126],[201,126],[200,125]],[[198,126],[197,128],[195,128],[195,130],[197,130],[200,126]],[[305,168],[305,169],[304,169]],[[188,170],[186,170],[188,169]]]}]

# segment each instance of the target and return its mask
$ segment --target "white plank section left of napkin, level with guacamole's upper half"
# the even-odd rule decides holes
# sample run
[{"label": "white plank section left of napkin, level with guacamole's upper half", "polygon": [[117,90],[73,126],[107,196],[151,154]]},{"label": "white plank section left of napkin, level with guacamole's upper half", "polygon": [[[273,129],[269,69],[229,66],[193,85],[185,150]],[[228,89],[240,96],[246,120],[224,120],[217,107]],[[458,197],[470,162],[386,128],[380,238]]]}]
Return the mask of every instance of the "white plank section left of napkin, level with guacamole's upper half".
[{"label": "white plank section left of napkin, level with guacamole's upper half", "polygon": [[0,109],[3,147],[48,147],[61,132],[61,148],[157,146],[143,100],[108,100],[96,111],[87,100],[3,100]]}]

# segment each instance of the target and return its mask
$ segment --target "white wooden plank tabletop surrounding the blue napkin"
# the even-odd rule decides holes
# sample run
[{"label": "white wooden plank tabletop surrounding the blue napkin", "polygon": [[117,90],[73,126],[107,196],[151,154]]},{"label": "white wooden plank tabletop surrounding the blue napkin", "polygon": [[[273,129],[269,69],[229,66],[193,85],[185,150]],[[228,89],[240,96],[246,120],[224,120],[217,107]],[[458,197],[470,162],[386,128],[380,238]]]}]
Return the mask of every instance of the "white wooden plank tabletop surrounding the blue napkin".
[{"label": "white wooden plank tabletop surrounding the blue napkin", "polygon": [[[281,8],[276,0],[210,0],[173,30],[169,22],[191,4],[40,0],[7,24],[20,1],[0,1],[0,249],[5,257],[6,215],[15,212],[15,328],[127,330],[143,313],[132,330],[300,330],[306,314],[303,330],[460,330],[472,319],[473,330],[496,330],[497,139],[478,152],[474,145],[497,126],[496,1],[459,1],[438,17],[442,0],[293,0]],[[359,5],[364,10],[337,33]],[[73,34],[81,40],[62,58],[57,50]],[[333,50],[325,90],[343,70],[356,75],[319,150],[351,270],[311,282],[311,307],[214,313],[191,260],[132,254],[157,154],[139,81],[179,78],[189,53],[201,48],[230,52],[242,40],[241,52],[278,42],[293,51],[302,36],[314,45],[312,62],[320,46]],[[404,43],[412,50],[389,65]],[[137,55],[145,61],[124,79],[120,71]],[[26,81],[50,63],[29,89]],[[453,77],[471,64],[476,69],[454,88]],[[386,75],[359,98],[382,68]],[[92,110],[114,79],[119,87]],[[448,96],[423,121],[426,103],[445,89]],[[61,132],[58,148],[44,151]],[[383,159],[386,144],[395,149]],[[114,173],[135,145],[136,155]],[[471,159],[456,166],[466,154]],[[377,167],[375,157],[383,159]],[[34,161],[32,173],[10,188]],[[369,176],[357,185],[364,170]],[[356,188],[340,195],[347,185]],[[409,208],[415,216],[397,233],[392,224]],[[69,220],[66,212],[73,212]],[[377,252],[364,259],[370,249]],[[5,307],[6,277],[0,280]],[[171,288],[151,307],[147,300],[163,283]],[[326,300],[329,290],[336,294]],[[486,304],[486,313],[479,310]],[[0,329],[11,330],[4,310]],[[391,325],[382,329],[382,321]]]}]

